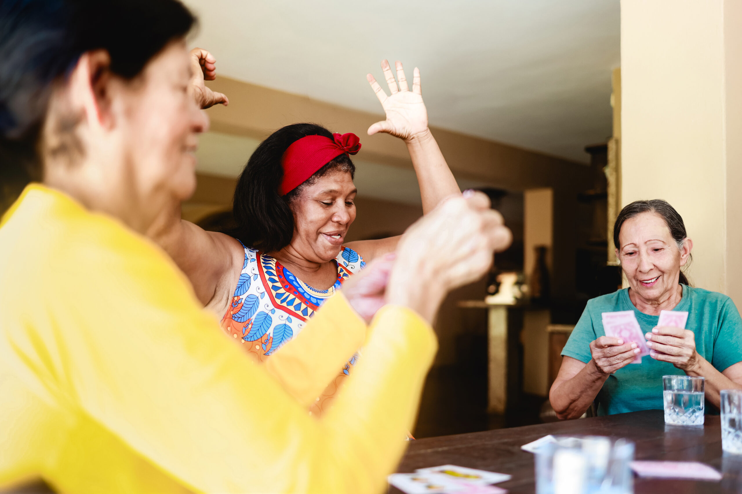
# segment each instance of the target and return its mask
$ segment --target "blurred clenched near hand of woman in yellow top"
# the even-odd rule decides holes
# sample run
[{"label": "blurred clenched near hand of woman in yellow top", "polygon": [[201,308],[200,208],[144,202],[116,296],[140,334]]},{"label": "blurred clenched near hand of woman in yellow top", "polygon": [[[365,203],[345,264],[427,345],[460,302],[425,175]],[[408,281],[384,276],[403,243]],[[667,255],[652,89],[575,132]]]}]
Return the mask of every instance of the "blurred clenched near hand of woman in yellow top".
[{"label": "blurred clenched near hand of woman in yellow top", "polygon": [[390,274],[387,302],[433,321],[450,290],[487,273],[493,253],[512,240],[502,215],[483,193],[452,196],[404,233]]}]

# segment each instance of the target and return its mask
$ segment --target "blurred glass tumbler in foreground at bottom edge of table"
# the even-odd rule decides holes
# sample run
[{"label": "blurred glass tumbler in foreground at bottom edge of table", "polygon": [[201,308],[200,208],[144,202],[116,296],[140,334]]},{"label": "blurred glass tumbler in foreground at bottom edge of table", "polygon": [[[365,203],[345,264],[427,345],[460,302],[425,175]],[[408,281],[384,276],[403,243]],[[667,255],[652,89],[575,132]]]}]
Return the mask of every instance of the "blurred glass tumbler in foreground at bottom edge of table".
[{"label": "blurred glass tumbler in foreground at bottom edge of table", "polygon": [[536,450],[536,494],[634,492],[634,443],[600,435],[555,439]]}]

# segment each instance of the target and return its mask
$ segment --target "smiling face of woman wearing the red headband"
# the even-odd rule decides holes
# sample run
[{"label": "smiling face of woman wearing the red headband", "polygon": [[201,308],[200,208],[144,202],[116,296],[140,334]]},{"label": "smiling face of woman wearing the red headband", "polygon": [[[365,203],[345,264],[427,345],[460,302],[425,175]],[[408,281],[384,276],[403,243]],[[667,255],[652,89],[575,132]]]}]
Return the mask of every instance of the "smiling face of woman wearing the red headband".
[{"label": "smiling face of woman wearing the red headband", "polygon": [[340,253],[355,220],[355,185],[350,173],[326,173],[291,201],[294,236],[291,246],[307,261],[328,262]]}]

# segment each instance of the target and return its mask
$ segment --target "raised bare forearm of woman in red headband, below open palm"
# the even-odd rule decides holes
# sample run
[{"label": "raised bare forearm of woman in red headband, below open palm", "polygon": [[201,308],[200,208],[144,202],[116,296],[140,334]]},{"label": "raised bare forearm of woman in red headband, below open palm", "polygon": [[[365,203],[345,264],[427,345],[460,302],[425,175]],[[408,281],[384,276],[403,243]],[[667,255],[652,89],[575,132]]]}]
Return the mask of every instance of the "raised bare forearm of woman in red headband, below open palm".
[{"label": "raised bare forearm of woman in red headband, below open palm", "polygon": [[423,213],[433,210],[444,198],[461,193],[430,129],[405,142],[420,184]]}]

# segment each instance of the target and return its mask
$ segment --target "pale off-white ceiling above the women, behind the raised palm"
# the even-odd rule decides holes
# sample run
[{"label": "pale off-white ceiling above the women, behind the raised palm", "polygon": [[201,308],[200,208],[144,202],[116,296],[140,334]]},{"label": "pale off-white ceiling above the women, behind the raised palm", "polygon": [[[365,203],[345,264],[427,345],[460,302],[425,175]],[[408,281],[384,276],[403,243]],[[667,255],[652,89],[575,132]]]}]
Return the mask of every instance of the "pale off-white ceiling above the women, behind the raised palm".
[{"label": "pale off-white ceiling above the women, behind the raised palm", "polygon": [[430,123],[588,161],[611,134],[619,0],[185,0],[234,79],[381,113],[381,59],[421,70]]}]

